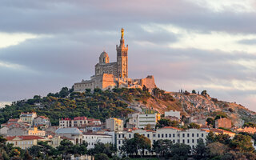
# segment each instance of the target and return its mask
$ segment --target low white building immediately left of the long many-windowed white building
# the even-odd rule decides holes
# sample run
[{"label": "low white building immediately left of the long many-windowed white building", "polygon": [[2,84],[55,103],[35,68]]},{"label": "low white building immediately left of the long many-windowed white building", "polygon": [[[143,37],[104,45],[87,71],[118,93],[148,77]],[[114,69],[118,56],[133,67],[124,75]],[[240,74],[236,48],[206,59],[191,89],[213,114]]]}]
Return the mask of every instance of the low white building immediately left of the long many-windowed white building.
[{"label": "low white building immediately left of the long many-windowed white building", "polygon": [[88,142],[88,149],[94,148],[94,145],[97,142],[102,142],[104,144],[106,143],[112,143],[113,138],[109,134],[93,134],[93,133],[87,133],[82,135],[82,141]]}]

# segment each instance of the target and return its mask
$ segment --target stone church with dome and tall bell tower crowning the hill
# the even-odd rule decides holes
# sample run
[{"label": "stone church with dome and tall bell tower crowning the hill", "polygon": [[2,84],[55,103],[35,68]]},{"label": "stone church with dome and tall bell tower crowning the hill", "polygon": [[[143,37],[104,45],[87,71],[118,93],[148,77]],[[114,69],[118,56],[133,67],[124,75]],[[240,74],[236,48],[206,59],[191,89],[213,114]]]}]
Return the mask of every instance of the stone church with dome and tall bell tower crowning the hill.
[{"label": "stone church with dome and tall bell tower crowning the hill", "polygon": [[86,89],[94,90],[95,88],[111,90],[114,87],[142,88],[143,86],[152,90],[156,87],[153,75],[141,79],[128,78],[128,45],[125,46],[123,34],[122,29],[120,44],[116,46],[117,62],[110,62],[109,55],[103,51],[99,56],[99,62],[95,65],[95,74],[90,77],[90,80],[74,83],[74,91],[84,92]]}]

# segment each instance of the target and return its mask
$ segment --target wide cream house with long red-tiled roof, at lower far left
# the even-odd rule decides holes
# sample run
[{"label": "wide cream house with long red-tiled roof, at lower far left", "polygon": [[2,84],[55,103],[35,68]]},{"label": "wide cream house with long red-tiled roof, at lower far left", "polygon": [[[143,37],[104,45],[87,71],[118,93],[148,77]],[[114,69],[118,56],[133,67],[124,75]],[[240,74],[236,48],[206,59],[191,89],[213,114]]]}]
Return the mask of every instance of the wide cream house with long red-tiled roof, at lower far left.
[{"label": "wide cream house with long red-tiled roof, at lower far left", "polygon": [[34,135],[23,135],[23,136],[8,136],[6,137],[7,143],[12,143],[14,146],[22,149],[30,148],[31,146],[38,145],[38,141],[44,139]]}]

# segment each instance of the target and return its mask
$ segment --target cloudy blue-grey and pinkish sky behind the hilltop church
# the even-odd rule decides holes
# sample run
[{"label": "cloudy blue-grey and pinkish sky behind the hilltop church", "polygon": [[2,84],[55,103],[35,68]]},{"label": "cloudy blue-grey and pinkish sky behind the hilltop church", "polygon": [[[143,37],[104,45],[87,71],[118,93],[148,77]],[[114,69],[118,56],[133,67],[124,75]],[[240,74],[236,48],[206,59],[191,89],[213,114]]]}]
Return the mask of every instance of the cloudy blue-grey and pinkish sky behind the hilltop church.
[{"label": "cloudy blue-grey and pinkish sky behind the hilltop church", "polygon": [[125,29],[129,77],[256,111],[256,1],[0,2],[0,106],[90,79]]}]

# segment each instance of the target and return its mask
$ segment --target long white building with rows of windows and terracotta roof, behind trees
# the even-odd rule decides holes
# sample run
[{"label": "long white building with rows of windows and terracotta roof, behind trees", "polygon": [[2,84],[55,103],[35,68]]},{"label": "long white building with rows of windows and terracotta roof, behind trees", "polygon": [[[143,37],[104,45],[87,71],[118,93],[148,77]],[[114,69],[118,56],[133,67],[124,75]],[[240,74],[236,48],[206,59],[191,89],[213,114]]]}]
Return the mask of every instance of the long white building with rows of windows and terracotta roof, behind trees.
[{"label": "long white building with rows of windows and terracotta roof, behind trees", "polygon": [[[120,151],[121,146],[123,145],[124,140],[127,138],[134,138],[134,134],[142,134],[146,138],[149,138],[151,141],[151,145],[158,139],[169,139],[173,143],[184,143],[189,145],[191,149],[198,144],[198,139],[202,138],[204,141],[206,140],[206,136],[208,132],[206,130],[198,130],[198,129],[189,129],[189,130],[180,130],[175,127],[166,126],[164,128],[158,129],[156,131],[153,130],[130,130],[130,131],[121,131],[116,133],[116,145],[118,150]],[[145,154],[150,154],[147,150]]]}]

